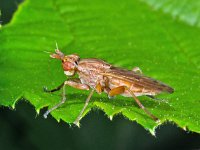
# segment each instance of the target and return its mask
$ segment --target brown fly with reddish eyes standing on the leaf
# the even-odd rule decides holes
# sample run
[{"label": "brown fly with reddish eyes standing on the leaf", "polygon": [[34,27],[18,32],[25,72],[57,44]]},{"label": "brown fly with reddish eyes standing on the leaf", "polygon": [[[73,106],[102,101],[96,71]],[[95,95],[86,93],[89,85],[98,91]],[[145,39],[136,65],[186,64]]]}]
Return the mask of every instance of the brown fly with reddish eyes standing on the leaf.
[{"label": "brown fly with reddish eyes standing on the leaf", "polygon": [[155,95],[167,92],[173,93],[173,88],[160,81],[142,75],[141,70],[135,67],[133,70],[126,70],[118,67],[114,67],[111,64],[106,63],[101,59],[87,58],[80,59],[76,54],[64,55],[61,51],[56,49],[54,54],[50,55],[51,58],[60,59],[62,61],[62,67],[65,75],[74,76],[76,73],[79,78],[68,79],[56,89],[47,90],[46,92],[55,92],[63,88],[62,100],[60,103],[49,109],[44,117],[62,105],[65,100],[65,86],[71,86],[81,90],[90,90],[90,94],[86,99],[85,105],[82,108],[80,114],[74,121],[74,124],[78,125],[82,117],[84,110],[86,109],[94,91],[97,93],[105,92],[108,97],[115,95],[122,95],[126,97],[132,97],[141,109],[155,121],[159,119],[148,111],[137,96],[146,95],[154,98]]}]

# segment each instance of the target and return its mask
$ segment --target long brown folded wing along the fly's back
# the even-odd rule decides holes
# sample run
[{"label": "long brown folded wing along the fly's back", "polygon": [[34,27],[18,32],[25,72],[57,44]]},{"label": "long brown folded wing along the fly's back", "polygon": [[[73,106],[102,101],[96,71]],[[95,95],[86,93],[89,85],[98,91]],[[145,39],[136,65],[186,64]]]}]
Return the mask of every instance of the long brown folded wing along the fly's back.
[{"label": "long brown folded wing along the fly's back", "polygon": [[141,90],[146,89],[149,91],[154,91],[156,93],[161,93],[161,92],[173,93],[174,92],[173,88],[171,88],[170,86],[160,81],[144,76],[142,74],[138,74],[134,71],[121,69],[118,67],[111,67],[110,70],[106,72],[104,75],[115,77],[115,78],[122,79],[125,81],[129,81],[133,83],[134,86],[140,88]]}]

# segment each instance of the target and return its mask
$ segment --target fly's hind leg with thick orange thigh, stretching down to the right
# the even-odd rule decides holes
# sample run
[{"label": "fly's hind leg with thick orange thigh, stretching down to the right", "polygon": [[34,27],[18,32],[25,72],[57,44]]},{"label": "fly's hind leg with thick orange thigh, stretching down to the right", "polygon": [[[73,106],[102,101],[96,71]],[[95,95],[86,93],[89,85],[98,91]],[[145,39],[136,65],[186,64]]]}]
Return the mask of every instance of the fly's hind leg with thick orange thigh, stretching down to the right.
[{"label": "fly's hind leg with thick orange thigh, stretching down to the right", "polygon": [[127,90],[131,96],[133,97],[133,99],[136,101],[136,103],[140,106],[140,108],[142,108],[145,113],[147,113],[147,115],[149,115],[154,121],[156,122],[159,122],[160,120],[154,116],[152,113],[150,113],[150,111],[148,111],[143,105],[142,103],[139,101],[139,99],[135,96],[135,94],[126,86],[119,86],[119,87],[116,87],[114,89],[112,89],[110,92],[109,92],[109,95],[110,96],[114,96],[114,95],[119,95],[119,94],[122,94],[125,92],[125,90]]}]

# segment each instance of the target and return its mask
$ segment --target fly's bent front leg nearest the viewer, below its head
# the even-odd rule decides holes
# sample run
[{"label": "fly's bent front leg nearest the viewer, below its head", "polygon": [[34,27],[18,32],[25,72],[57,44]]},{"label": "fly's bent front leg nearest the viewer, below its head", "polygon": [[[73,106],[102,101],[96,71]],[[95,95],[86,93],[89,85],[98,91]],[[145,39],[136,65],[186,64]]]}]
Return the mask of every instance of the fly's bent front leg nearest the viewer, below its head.
[{"label": "fly's bent front leg nearest the viewer, below its head", "polygon": [[[53,110],[57,109],[60,105],[62,105],[65,101],[66,101],[66,95],[65,95],[65,86],[68,85],[68,86],[71,86],[71,87],[74,87],[74,88],[77,88],[77,89],[81,89],[81,90],[89,90],[89,86],[86,85],[86,84],[82,84],[80,82],[77,82],[77,80],[68,80],[68,81],[65,81],[63,83],[63,86],[59,86],[59,89],[63,88],[63,92],[62,92],[62,99],[61,101],[56,104],[55,106],[53,106],[51,109],[47,110],[45,113],[44,113],[44,118],[47,118],[48,114],[50,112],[52,112]],[[56,88],[58,89],[58,88]],[[55,90],[50,90],[51,91],[55,91]],[[48,91],[47,91],[48,92]]]}]

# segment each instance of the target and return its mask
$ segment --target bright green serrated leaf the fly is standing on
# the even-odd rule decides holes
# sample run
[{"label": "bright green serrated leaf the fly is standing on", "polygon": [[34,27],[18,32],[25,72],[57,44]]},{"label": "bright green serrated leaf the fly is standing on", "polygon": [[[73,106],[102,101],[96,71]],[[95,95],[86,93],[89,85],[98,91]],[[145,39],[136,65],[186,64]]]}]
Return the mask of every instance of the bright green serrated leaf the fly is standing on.
[{"label": "bright green serrated leaf the fly is standing on", "polygon": [[[61,92],[42,90],[66,80],[61,62],[44,52],[53,52],[57,41],[65,54],[96,57],[127,69],[139,66],[145,75],[171,85],[173,94],[158,96],[168,103],[139,99],[162,123],[172,121],[199,133],[199,40],[199,28],[174,21],[139,0],[26,0],[0,32],[0,104],[14,108],[17,100],[25,98],[39,112],[61,100]],[[72,123],[89,92],[66,90],[67,102],[51,114]],[[92,108],[111,119],[120,113],[152,134],[159,125],[132,98],[110,100],[95,94],[84,115]]]}]

